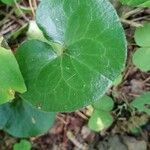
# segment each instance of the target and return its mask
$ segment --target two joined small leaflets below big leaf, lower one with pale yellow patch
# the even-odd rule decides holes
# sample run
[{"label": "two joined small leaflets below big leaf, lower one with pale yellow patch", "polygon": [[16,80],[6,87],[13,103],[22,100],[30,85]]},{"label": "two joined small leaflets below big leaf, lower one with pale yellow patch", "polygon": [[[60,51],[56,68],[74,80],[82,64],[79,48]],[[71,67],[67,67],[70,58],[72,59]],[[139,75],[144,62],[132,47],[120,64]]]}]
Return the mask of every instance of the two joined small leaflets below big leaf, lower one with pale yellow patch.
[{"label": "two joined small leaflets below big leaf, lower one with pale yellow patch", "polygon": [[108,128],[113,123],[113,117],[110,114],[113,105],[113,100],[108,96],[94,103],[94,112],[88,122],[89,128],[97,132]]}]

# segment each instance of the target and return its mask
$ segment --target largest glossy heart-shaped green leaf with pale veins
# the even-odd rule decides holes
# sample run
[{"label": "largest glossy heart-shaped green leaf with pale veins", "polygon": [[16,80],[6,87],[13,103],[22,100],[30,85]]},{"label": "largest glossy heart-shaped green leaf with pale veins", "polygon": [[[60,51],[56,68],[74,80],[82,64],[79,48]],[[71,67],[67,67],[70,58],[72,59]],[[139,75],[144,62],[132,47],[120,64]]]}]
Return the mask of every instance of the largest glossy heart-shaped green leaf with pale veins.
[{"label": "largest glossy heart-shaped green leaf with pale veins", "polygon": [[126,58],[124,31],[111,4],[42,0],[37,23],[50,41],[27,41],[17,50],[28,88],[23,97],[46,111],[73,111],[100,99]]}]

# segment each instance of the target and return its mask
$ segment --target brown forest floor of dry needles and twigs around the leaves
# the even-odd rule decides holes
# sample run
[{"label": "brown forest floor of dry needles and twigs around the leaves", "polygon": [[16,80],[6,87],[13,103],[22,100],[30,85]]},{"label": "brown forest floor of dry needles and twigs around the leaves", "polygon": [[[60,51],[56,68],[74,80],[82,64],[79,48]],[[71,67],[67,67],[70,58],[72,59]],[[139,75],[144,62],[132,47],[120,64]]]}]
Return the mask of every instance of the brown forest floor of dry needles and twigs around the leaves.
[{"label": "brown forest floor of dry needles and twigs around the leaves", "polygon": [[[33,4],[36,7],[36,4]],[[27,13],[16,14],[18,7],[31,8]],[[116,5],[122,19],[128,41],[128,59],[123,72],[122,82],[112,87],[107,94],[114,100],[112,114],[114,123],[101,132],[91,131],[87,127],[89,116],[87,108],[73,113],[59,113],[55,124],[46,134],[29,139],[34,150],[147,150],[150,149],[150,122],[140,128],[140,132],[130,132],[131,127],[138,126],[146,116],[143,113],[132,115],[124,104],[129,103],[144,91],[150,91],[150,72],[142,72],[132,63],[136,51],[134,42],[135,27],[143,22],[150,22],[150,9],[131,8]],[[15,7],[0,4],[0,35],[4,36],[9,46],[15,50],[25,40],[27,24],[34,20],[35,10],[28,1],[18,3]],[[132,13],[129,13],[132,12]],[[0,131],[0,150],[12,149],[20,139]]]}]

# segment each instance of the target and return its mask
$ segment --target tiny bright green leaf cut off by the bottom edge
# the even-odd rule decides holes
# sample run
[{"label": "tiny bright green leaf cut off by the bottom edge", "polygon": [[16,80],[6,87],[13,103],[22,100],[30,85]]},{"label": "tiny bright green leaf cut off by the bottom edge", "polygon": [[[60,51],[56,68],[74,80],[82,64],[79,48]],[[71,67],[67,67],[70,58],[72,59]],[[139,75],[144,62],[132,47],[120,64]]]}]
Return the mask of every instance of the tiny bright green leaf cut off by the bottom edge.
[{"label": "tiny bright green leaf cut off by the bottom edge", "polygon": [[21,140],[13,146],[13,150],[31,150],[31,143],[27,140]]}]

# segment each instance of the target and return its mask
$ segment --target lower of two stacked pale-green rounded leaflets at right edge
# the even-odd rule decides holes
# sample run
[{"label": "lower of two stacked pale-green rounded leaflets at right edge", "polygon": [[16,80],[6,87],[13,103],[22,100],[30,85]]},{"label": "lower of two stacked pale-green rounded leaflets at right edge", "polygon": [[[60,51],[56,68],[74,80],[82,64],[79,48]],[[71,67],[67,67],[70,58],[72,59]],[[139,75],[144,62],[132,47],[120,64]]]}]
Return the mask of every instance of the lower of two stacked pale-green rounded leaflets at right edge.
[{"label": "lower of two stacked pale-green rounded leaflets at right edge", "polygon": [[150,71],[150,47],[137,49],[133,55],[133,63],[142,71]]}]

